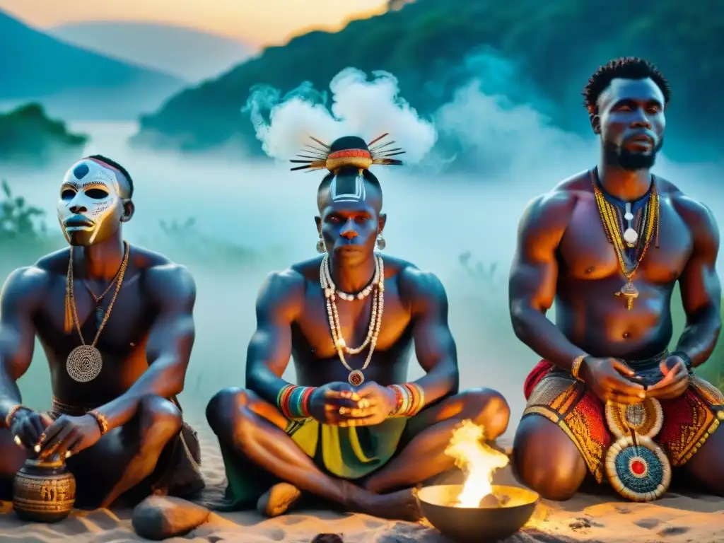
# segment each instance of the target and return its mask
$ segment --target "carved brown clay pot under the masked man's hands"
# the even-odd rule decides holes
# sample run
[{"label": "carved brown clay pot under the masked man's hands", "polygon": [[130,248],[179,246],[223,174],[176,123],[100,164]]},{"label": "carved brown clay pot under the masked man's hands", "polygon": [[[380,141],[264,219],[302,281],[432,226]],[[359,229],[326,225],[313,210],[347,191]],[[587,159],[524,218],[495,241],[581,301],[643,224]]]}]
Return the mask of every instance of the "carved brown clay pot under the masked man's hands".
[{"label": "carved brown clay pot under the masked man's hands", "polygon": [[15,476],[12,494],[22,521],[62,521],[75,503],[75,477],[60,460],[27,460]]}]

